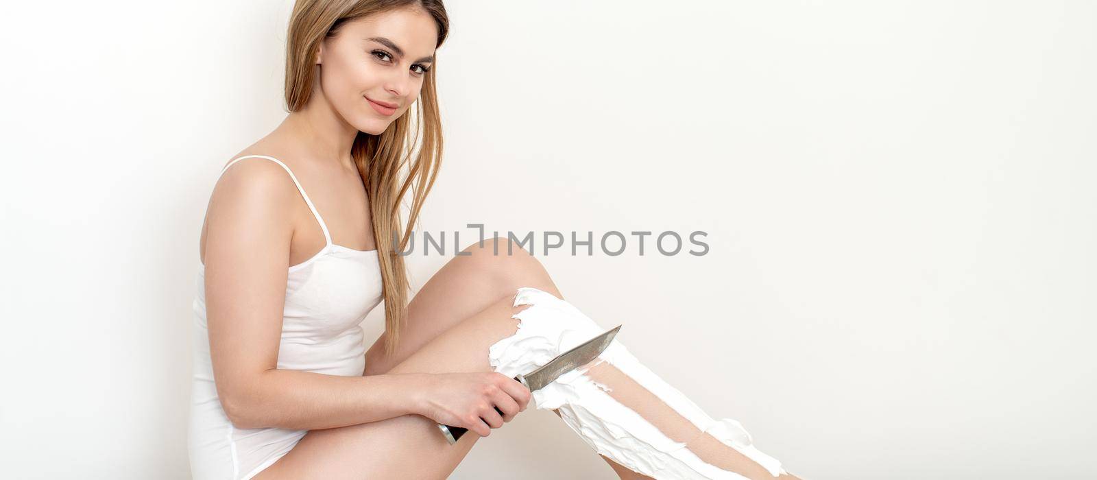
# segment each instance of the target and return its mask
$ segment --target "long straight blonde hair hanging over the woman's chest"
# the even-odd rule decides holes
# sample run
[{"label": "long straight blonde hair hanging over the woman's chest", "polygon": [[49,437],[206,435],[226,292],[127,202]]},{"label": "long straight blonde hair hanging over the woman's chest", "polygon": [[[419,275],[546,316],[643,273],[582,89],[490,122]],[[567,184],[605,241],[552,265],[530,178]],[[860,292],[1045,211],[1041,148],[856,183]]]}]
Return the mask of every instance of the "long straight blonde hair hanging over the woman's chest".
[{"label": "long straight blonde hair hanging over the woman's chest", "polygon": [[[286,110],[296,112],[308,103],[313,82],[316,81],[313,60],[326,37],[335,36],[346,22],[405,7],[418,7],[434,20],[438,25],[436,48],[441,46],[450,24],[441,0],[297,0],[286,35]],[[412,108],[409,108],[381,135],[359,132],[351,147],[351,157],[365,185],[373,236],[377,242],[385,302],[386,355],[395,351],[400,328],[407,318],[409,285],[404,256],[398,252],[407,245],[411,227],[434,184],[442,159],[442,125],[434,91],[437,71],[436,58],[425,73],[415,111],[414,136],[409,135],[412,126],[409,118]],[[420,136],[422,144],[418,152],[412,153]],[[403,181],[399,179],[402,171],[406,171]],[[396,236],[402,230],[400,199],[408,190],[411,191],[408,226],[399,236],[398,247],[394,248]]]}]

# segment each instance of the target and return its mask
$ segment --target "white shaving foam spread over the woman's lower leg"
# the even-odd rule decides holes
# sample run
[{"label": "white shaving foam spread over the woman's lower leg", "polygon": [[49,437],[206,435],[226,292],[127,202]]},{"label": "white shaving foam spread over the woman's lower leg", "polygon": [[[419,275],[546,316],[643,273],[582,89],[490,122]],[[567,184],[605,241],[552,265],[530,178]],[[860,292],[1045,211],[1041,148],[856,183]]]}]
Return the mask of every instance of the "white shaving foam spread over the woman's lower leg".
[{"label": "white shaving foam spread over the woman's lower leg", "polygon": [[[538,288],[521,287],[516,307],[529,308],[514,313],[518,332],[489,348],[489,362],[496,372],[508,377],[530,373],[557,355],[579,345],[602,329],[572,304]],[[661,399],[702,434],[709,434],[734,448],[777,477],[785,471],[780,461],[754,447],[750,435],[732,419],[713,420],[682,392],[660,379],[614,339],[593,362],[562,375],[533,392],[539,410],[558,409],[564,422],[596,452],[613,461],[656,479],[743,479],[736,472],[703,461],[659,428],[625,407],[608,392],[611,387],[585,375],[602,362],[632,378]]]}]

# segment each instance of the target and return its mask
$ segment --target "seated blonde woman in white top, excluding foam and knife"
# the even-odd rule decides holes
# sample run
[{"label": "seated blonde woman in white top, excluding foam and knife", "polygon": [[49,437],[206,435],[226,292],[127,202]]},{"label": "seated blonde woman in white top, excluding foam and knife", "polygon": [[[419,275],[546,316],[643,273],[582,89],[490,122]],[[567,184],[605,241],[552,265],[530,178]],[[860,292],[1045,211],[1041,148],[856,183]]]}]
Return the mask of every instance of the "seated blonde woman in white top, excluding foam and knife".
[{"label": "seated blonde woman in white top, excluding foam and knife", "polygon": [[[446,31],[439,0],[294,7],[290,114],[225,165],[202,228],[195,478],[444,478],[477,438],[527,409],[530,390],[494,372],[485,352],[516,334],[517,288],[562,298],[540,262],[520,248],[494,254],[506,247],[495,239],[473,244],[409,302],[396,253],[405,243],[383,241],[406,241],[438,171],[433,66]],[[408,156],[412,135],[421,140]],[[397,207],[409,190],[402,232]],[[359,322],[382,299],[385,333],[366,351]],[[602,380],[638,387],[627,376]],[[657,399],[621,404],[630,401],[706,465],[793,478],[711,442]],[[450,445],[438,423],[475,435]],[[622,478],[645,478],[603,458]]]}]

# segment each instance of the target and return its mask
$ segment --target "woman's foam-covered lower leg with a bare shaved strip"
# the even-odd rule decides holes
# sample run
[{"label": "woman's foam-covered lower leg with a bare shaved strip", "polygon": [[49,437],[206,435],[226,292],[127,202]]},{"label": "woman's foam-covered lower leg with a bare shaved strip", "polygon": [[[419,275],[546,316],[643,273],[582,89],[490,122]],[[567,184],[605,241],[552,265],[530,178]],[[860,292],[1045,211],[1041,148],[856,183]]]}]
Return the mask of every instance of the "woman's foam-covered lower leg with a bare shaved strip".
[{"label": "woman's foam-covered lower leg with a bare shaved strip", "polygon": [[[518,332],[489,348],[493,368],[507,376],[529,373],[612,327],[538,288],[519,288],[513,305],[530,306],[517,315]],[[617,339],[593,361],[534,391],[533,402],[620,464],[610,464],[619,473],[627,466],[655,478],[795,479],[757,449],[738,422],[705,414]]]}]

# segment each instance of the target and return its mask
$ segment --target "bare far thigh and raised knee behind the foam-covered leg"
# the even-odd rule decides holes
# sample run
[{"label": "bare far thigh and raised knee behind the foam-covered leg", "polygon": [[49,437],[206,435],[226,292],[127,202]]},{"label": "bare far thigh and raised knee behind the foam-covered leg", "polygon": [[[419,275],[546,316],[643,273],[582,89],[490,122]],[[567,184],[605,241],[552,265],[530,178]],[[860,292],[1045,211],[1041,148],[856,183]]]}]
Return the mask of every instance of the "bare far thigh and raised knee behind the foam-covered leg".
[{"label": "bare far thigh and raised knee behind the foam-covered leg", "polygon": [[563,298],[541,262],[507,239],[473,242],[462,252],[467,254],[450,259],[408,302],[408,317],[393,354],[385,356],[385,334],[373,343],[365,354],[365,375],[388,372],[427,342],[520,286]]}]

